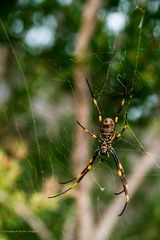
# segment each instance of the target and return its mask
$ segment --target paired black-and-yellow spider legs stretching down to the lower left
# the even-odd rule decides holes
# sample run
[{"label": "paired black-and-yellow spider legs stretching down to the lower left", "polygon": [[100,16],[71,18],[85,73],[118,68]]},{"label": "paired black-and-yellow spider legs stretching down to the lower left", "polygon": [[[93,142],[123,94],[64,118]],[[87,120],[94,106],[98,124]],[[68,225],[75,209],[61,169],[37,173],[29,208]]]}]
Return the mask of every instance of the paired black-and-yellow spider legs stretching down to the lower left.
[{"label": "paired black-and-yellow spider legs stretching down to the lower left", "polygon": [[65,184],[65,183],[69,183],[69,182],[72,182],[74,181],[74,183],[71,185],[71,187],[69,187],[68,189],[66,189],[65,191],[61,192],[61,193],[58,193],[56,195],[53,195],[53,196],[50,196],[48,198],[55,198],[55,197],[59,197],[63,194],[65,194],[66,192],[70,191],[71,189],[77,187],[79,185],[79,183],[81,182],[81,180],[83,179],[83,177],[91,170],[91,168],[93,167],[93,164],[94,164],[94,161],[96,160],[97,158],[97,155],[99,153],[99,150],[100,149],[97,149],[94,154],[93,154],[93,158],[88,162],[88,164],[86,165],[86,167],[83,169],[83,171],[76,177],[76,178],[73,178],[67,182],[63,182],[62,184]]}]

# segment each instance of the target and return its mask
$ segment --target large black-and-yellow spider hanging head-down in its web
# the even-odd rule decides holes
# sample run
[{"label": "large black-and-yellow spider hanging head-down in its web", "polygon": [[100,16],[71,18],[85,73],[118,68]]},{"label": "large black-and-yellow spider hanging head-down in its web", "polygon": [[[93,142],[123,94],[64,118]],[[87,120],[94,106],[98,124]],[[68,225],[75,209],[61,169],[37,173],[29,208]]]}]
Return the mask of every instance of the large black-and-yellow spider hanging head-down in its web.
[{"label": "large black-and-yellow spider hanging head-down in its web", "polygon": [[119,105],[119,108],[115,114],[115,117],[114,117],[114,120],[111,119],[111,118],[103,118],[102,117],[102,114],[101,114],[101,111],[100,111],[100,108],[98,106],[98,103],[97,103],[97,100],[95,98],[95,95],[92,91],[92,88],[88,82],[88,80],[86,79],[86,82],[87,82],[87,85],[88,85],[88,88],[90,90],[90,93],[91,93],[91,97],[92,97],[92,100],[93,100],[93,104],[98,112],[98,120],[99,120],[99,124],[100,124],[100,134],[99,134],[99,137],[97,137],[95,134],[91,133],[87,128],[85,128],[80,122],[77,121],[77,124],[86,132],[88,133],[92,138],[98,140],[99,142],[99,147],[95,150],[95,152],[93,153],[93,157],[92,159],[88,162],[88,164],[86,165],[86,167],[83,169],[83,171],[81,171],[81,173],[69,180],[69,181],[66,181],[66,182],[61,182],[60,184],[66,184],[66,183],[70,183],[70,182],[73,182],[71,187],[69,187],[67,190],[57,194],[57,195],[54,195],[54,196],[50,196],[48,198],[55,198],[55,197],[58,197],[60,195],[63,195],[64,193],[70,191],[71,189],[73,189],[74,187],[77,187],[79,185],[79,183],[81,182],[81,180],[83,179],[83,177],[91,170],[91,168],[93,167],[93,164],[96,160],[96,158],[99,156],[101,160],[104,160],[103,157],[109,157],[110,155],[112,155],[113,157],[113,160],[115,162],[115,165],[116,165],[116,168],[117,168],[117,172],[118,172],[118,176],[120,177],[120,180],[121,180],[121,183],[122,183],[122,186],[123,186],[123,190],[118,192],[118,193],[115,193],[115,195],[119,195],[121,193],[124,193],[125,195],[125,205],[121,211],[121,213],[118,215],[118,216],[121,216],[125,209],[126,209],[126,206],[129,202],[129,195],[128,195],[128,185],[127,185],[127,181],[126,181],[126,178],[125,178],[125,174],[124,174],[124,170],[123,170],[123,167],[120,163],[120,160],[116,154],[116,151],[114,150],[114,148],[112,147],[112,143],[113,141],[115,141],[116,139],[119,139],[121,137],[121,135],[123,134],[123,132],[125,131],[125,129],[127,128],[127,112],[125,114],[125,119],[124,119],[124,124],[123,124],[123,128],[121,130],[121,132],[117,132],[116,131],[116,127],[117,127],[117,123],[118,123],[118,119],[119,119],[119,115],[123,109],[123,106],[125,104],[125,96],[126,96],[126,91],[124,91],[124,94],[123,94],[123,99]]}]

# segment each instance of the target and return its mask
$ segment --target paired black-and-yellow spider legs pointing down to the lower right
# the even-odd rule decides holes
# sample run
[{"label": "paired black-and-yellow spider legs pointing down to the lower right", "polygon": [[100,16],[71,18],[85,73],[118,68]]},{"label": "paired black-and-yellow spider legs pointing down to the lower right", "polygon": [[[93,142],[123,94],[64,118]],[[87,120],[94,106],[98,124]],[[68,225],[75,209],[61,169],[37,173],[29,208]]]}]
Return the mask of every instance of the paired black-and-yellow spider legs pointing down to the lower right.
[{"label": "paired black-and-yellow spider legs pointing down to the lower right", "polygon": [[121,194],[123,192],[125,194],[125,201],[126,202],[125,202],[125,205],[124,205],[121,213],[118,215],[118,216],[121,216],[124,213],[124,211],[126,209],[126,206],[127,206],[128,202],[129,202],[128,185],[127,185],[127,181],[126,181],[126,178],[125,178],[125,175],[124,175],[123,167],[122,167],[122,165],[121,165],[121,163],[120,163],[120,161],[119,161],[119,159],[117,157],[117,154],[116,154],[116,152],[115,152],[115,150],[113,148],[111,148],[111,154],[113,156],[113,159],[114,159],[116,167],[117,167],[118,176],[120,177],[122,185],[123,185],[123,190],[121,192],[115,193],[115,194],[118,195],[118,194]]}]

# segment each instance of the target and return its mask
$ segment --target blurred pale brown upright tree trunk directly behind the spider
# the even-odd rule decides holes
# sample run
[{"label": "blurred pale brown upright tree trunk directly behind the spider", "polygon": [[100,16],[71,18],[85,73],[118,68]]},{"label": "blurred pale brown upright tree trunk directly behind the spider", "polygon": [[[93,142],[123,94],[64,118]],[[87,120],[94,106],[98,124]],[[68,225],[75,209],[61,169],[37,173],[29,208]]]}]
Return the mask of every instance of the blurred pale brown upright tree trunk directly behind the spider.
[{"label": "blurred pale brown upright tree trunk directly behind the spider", "polygon": [[[89,67],[86,66],[86,59],[88,55],[88,48],[90,40],[93,36],[96,22],[97,11],[102,4],[102,0],[87,1],[81,20],[80,30],[77,34],[77,42],[75,48],[75,59],[77,66],[75,69],[75,95],[77,105],[75,107],[76,119],[84,126],[88,125],[88,118],[90,113],[89,108],[89,94],[85,79],[87,78]],[[85,57],[85,58],[84,58]],[[84,62],[85,59],[85,62]],[[73,153],[71,156],[74,173],[79,173],[89,156],[89,138],[79,126],[75,128],[75,143],[73,146]],[[83,182],[77,189],[76,209],[78,219],[78,239],[91,239],[93,231],[93,216],[89,201],[89,182]]]}]

